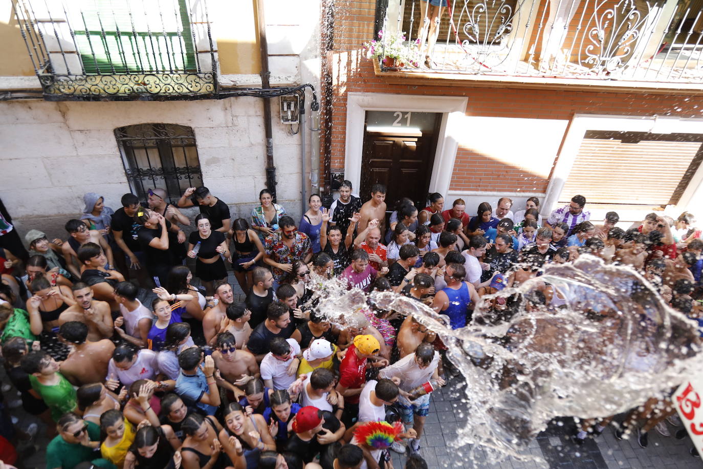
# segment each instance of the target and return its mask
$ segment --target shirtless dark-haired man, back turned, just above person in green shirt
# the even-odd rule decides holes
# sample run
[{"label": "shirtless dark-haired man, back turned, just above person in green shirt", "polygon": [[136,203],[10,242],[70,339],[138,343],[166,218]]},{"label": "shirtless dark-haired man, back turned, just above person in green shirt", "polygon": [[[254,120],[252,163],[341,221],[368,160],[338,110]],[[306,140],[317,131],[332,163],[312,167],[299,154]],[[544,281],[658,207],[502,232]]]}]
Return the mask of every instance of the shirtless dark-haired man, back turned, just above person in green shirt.
[{"label": "shirtless dark-haired man, back turned, just above person in green shirt", "polygon": [[67,359],[61,362],[61,374],[74,386],[102,383],[108,375],[108,363],[115,350],[111,340],[86,340],[88,326],[79,321],[63,323],[58,336],[73,347]]}]

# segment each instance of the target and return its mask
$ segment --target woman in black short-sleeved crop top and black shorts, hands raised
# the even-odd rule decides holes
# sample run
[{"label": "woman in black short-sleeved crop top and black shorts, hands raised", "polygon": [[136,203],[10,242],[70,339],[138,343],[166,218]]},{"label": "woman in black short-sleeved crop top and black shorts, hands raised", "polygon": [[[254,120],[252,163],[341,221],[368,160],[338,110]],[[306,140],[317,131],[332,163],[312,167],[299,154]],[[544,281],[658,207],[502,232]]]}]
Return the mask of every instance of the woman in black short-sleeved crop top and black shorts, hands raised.
[{"label": "woman in black short-sleeved crop top and black shorts, hands raised", "polygon": [[[229,257],[229,248],[224,233],[212,231],[210,221],[204,214],[195,217],[195,226],[198,231],[193,231],[188,237],[188,257],[198,257],[195,261],[195,275],[205,285],[207,295],[212,295],[213,282],[227,278],[227,268],[220,255]],[[195,246],[200,247],[193,250]]]}]

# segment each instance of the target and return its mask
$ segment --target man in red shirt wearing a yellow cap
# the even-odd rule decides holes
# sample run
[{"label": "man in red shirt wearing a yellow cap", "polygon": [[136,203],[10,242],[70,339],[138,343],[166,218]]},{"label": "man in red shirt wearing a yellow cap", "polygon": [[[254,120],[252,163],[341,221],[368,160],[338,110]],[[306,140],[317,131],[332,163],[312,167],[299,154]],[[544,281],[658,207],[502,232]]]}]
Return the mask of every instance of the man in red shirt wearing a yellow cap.
[{"label": "man in red shirt wearing a yellow cap", "polygon": [[337,392],[344,396],[342,422],[347,428],[352,426],[352,420],[359,415],[359,394],[366,384],[366,361],[371,359],[374,368],[388,366],[388,360],[378,356],[380,349],[381,345],[373,335],[357,335],[340,364]]}]

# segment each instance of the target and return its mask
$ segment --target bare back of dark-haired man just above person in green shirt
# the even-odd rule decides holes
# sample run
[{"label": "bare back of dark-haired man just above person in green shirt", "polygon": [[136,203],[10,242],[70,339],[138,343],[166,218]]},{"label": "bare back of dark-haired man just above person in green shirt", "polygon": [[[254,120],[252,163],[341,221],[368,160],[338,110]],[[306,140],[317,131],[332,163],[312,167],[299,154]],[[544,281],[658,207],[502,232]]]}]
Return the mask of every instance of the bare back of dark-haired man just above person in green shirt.
[{"label": "bare back of dark-haired man just above person in green shirt", "polygon": [[78,345],[61,363],[61,374],[75,386],[102,383],[114,350],[115,344],[108,339]]}]

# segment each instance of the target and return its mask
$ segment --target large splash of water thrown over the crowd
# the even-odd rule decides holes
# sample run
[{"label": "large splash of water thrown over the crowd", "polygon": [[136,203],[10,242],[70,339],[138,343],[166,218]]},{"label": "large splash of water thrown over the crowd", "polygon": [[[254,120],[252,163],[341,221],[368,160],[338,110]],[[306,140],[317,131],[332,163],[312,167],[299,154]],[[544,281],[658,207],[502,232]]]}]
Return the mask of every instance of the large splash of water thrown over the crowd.
[{"label": "large splash of water thrown over the crowd", "polygon": [[[591,256],[549,264],[542,276],[482,298],[472,323],[457,330],[395,293],[347,291],[338,279],[318,279],[311,288],[318,310],[342,327],[363,322],[370,303],[439,334],[467,383],[468,418],[452,442],[469,444],[467,459],[477,448],[494,460],[534,458],[524,449],[553,418],[626,411],[664,396],[703,365],[694,321],[667,306],[636,271]],[[552,306],[536,307],[536,290],[553,291]]]}]

